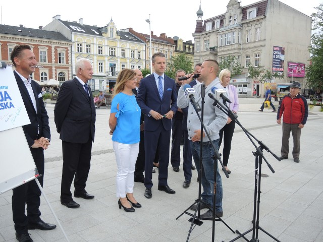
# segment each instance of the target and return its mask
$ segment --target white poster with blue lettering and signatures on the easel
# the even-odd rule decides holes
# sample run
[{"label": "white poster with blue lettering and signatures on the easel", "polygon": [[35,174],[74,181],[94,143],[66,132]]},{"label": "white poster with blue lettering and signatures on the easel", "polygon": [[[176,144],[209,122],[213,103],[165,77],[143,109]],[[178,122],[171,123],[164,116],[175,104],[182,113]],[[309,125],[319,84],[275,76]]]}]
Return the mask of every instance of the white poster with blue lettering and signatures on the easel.
[{"label": "white poster with blue lettering and signatures on the easel", "polygon": [[30,124],[11,67],[0,68],[0,131]]}]

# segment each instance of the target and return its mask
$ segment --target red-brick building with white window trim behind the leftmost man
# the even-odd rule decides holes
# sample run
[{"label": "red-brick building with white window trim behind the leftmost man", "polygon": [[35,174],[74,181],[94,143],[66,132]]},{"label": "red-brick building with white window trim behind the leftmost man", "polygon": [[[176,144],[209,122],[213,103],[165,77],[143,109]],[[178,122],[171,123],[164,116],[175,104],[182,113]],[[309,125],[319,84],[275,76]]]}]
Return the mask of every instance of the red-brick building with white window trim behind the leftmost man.
[{"label": "red-brick building with white window trim behind the leftmost man", "polygon": [[29,45],[36,56],[38,65],[31,75],[33,80],[64,82],[72,78],[72,42],[61,33],[43,30],[42,26],[32,29],[23,25],[0,25],[0,60],[13,69],[11,52],[20,44]]}]

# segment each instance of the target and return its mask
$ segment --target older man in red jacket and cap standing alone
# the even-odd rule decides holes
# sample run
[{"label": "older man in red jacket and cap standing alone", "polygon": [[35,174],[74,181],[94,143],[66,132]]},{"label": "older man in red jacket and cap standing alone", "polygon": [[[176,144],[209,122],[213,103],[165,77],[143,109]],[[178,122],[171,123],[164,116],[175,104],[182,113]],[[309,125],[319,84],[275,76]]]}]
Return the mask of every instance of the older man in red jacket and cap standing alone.
[{"label": "older man in red jacket and cap standing alone", "polygon": [[294,148],[293,158],[296,163],[299,162],[299,149],[301,129],[304,128],[308,116],[308,107],[306,99],[299,94],[300,83],[293,82],[289,88],[289,94],[284,96],[277,112],[277,124],[281,124],[283,115],[283,138],[280,159],[288,159],[289,136],[292,132]]}]

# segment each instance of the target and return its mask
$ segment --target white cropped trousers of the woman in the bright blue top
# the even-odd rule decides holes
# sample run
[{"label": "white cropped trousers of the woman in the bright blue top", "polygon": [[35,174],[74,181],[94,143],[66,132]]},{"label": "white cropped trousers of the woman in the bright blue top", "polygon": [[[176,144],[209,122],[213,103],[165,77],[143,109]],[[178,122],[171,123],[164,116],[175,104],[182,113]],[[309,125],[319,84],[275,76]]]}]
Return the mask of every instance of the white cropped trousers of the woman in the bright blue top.
[{"label": "white cropped trousers of the woman in the bright blue top", "polygon": [[116,155],[117,171],[117,198],[125,198],[127,193],[133,193],[135,164],[139,153],[139,143],[122,144],[113,141],[113,150]]}]

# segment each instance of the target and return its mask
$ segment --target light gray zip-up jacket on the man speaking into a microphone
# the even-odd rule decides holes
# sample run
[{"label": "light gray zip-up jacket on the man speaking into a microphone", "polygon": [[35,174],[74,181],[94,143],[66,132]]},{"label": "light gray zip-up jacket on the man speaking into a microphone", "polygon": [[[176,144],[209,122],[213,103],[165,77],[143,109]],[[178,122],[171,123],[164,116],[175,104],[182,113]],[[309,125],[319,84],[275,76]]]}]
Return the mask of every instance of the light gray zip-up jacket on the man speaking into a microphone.
[{"label": "light gray zip-up jacket on the man speaking into a microphone", "polygon": [[[219,108],[213,106],[214,101],[207,95],[211,92],[212,87],[216,86],[218,83],[219,78],[216,78],[205,88],[203,123],[211,140],[219,139],[219,131],[227,124],[228,120],[228,116]],[[193,88],[195,90],[195,101],[202,107],[201,85],[201,83],[198,83]],[[177,106],[180,108],[188,106],[187,132],[188,138],[191,140],[195,135],[194,131],[201,129],[201,123],[192,104],[190,104],[190,99],[185,98],[184,91],[183,86],[178,90]],[[201,116],[201,111],[199,111],[198,114]],[[203,137],[202,141],[209,141],[207,135]]]}]

